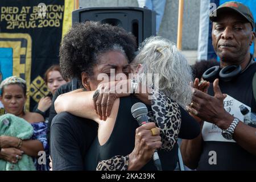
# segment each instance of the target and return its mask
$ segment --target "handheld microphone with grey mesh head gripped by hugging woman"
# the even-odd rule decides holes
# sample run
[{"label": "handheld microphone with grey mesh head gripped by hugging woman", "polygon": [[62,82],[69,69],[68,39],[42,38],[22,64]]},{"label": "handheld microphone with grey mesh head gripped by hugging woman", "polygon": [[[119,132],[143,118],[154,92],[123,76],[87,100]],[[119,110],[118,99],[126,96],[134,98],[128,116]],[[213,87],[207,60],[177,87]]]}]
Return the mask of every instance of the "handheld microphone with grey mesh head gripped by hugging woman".
[{"label": "handheld microphone with grey mesh head gripped by hugging woman", "polygon": [[[142,102],[137,102],[131,107],[131,114],[138,121],[139,126],[148,123],[147,113],[147,106],[144,105]],[[162,165],[157,150],[155,150],[154,152],[153,160],[155,167],[158,169],[158,171],[162,171]]]}]

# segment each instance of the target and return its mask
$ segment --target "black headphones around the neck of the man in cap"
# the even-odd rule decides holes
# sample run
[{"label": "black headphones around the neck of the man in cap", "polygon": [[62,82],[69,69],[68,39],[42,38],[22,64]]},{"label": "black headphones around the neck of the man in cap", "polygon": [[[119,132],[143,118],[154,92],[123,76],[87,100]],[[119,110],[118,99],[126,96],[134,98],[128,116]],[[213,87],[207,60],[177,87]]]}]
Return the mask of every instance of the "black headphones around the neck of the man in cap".
[{"label": "black headphones around the neck of the man in cap", "polygon": [[240,65],[229,65],[222,69],[220,66],[214,66],[204,72],[203,78],[209,82],[213,82],[216,78],[220,78],[222,81],[231,81],[236,78],[241,71],[242,68]]}]

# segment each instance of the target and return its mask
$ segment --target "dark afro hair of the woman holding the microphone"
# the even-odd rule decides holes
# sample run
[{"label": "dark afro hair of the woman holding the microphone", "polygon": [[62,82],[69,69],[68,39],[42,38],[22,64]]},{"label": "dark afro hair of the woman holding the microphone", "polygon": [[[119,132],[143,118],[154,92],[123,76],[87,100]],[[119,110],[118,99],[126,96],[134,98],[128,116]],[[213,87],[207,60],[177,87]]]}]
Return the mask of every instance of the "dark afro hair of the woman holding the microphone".
[{"label": "dark afro hair of the woman holding the microphone", "polygon": [[76,23],[64,36],[60,46],[60,69],[64,78],[78,78],[81,73],[93,74],[97,56],[110,51],[115,45],[121,47],[131,62],[137,47],[135,36],[121,27],[100,22]]}]

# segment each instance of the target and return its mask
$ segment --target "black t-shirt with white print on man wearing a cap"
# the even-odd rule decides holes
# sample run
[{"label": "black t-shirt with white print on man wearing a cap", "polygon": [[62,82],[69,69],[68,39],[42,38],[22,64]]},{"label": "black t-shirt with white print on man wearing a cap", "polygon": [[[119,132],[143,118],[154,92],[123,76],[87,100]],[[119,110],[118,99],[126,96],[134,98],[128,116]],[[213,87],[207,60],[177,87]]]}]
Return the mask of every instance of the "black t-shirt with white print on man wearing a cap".
[{"label": "black t-shirt with white print on man wearing a cap", "polygon": [[[240,121],[243,121],[240,105],[256,113],[252,88],[255,72],[256,63],[253,63],[233,81],[219,80],[221,92],[228,94],[224,100],[224,108]],[[208,93],[214,95],[212,84]],[[236,141],[226,140],[216,125],[204,122],[202,135],[203,150],[197,170],[256,170],[256,155],[247,152]]]}]

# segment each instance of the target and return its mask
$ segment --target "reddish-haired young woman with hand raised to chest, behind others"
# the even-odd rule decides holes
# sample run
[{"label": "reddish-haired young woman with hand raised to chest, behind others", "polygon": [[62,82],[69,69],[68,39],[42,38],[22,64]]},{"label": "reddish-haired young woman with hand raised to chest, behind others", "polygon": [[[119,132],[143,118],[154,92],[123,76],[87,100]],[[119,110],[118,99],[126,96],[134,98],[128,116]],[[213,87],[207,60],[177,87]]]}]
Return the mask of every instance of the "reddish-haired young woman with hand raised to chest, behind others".
[{"label": "reddish-haired young woman with hand raised to chest, behind others", "polygon": [[47,69],[46,73],[44,74],[44,81],[46,82],[50,92],[48,96],[40,99],[33,111],[43,115],[43,117],[48,121],[49,107],[52,104],[53,94],[61,85],[66,84],[67,81],[63,79],[63,76],[60,73],[59,65],[52,65]]}]

